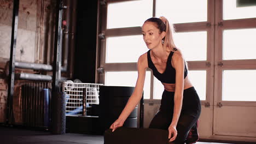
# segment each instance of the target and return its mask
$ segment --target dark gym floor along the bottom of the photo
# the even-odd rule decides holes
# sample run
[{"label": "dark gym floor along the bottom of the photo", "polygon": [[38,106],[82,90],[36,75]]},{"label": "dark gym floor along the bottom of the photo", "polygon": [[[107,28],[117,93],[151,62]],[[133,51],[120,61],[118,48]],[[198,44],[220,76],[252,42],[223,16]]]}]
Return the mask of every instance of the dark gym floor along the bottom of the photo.
[{"label": "dark gym floor along the bottom of the photo", "polygon": [[[27,130],[13,127],[0,126],[1,144],[103,144],[103,136],[67,133],[64,135],[52,135],[49,131]],[[222,144],[212,142],[196,142],[196,144]]]}]

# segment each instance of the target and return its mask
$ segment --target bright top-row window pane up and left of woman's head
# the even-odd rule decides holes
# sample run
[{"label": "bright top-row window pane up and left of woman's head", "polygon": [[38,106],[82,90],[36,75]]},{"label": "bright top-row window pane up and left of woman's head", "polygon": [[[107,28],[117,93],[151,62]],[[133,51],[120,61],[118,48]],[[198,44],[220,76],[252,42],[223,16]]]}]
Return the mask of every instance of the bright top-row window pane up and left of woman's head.
[{"label": "bright top-row window pane up and left of woman's head", "polygon": [[142,26],[152,15],[152,0],[109,3],[107,28]]}]

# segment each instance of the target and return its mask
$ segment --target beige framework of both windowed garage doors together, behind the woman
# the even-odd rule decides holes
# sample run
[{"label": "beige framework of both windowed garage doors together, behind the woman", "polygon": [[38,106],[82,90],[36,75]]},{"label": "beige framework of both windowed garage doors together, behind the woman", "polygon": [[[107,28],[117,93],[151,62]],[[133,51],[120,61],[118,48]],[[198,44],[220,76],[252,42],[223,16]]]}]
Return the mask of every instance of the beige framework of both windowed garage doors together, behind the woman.
[{"label": "beige framework of both windowed garage doors together, behind the woman", "polygon": [[[158,0],[161,1],[161,0]],[[111,1],[120,2],[120,1]],[[122,1],[123,2],[123,1]],[[207,112],[207,118],[210,122],[207,125],[211,125],[212,129],[206,129],[208,139],[227,139],[227,136],[214,135],[214,119],[216,116],[214,110],[219,103],[224,106],[250,106],[255,107],[255,101],[222,101],[222,70],[226,69],[256,69],[256,59],[248,60],[223,60],[222,58],[222,45],[223,45],[223,30],[235,29],[235,28],[255,28],[256,18],[251,19],[237,19],[237,20],[223,20],[223,0],[208,0],[207,1],[207,21],[205,22],[191,22],[191,23],[176,23],[174,27],[176,32],[193,32],[193,31],[207,31],[207,59],[206,61],[192,61],[188,62],[189,70],[206,70],[206,100],[201,100],[203,111]],[[155,4],[156,0],[153,0],[153,16],[155,16]],[[104,5],[104,9],[101,7],[101,23],[102,29],[98,30],[98,33],[106,33],[106,37],[109,35],[118,35],[120,32],[125,34],[137,33],[136,28],[117,28],[106,29],[107,23],[107,4]],[[130,33],[126,33],[127,29],[130,29]],[[108,35],[109,34],[109,35]],[[124,33],[122,33],[124,34]],[[136,70],[136,63],[105,63],[106,52],[106,39],[100,41],[101,52],[100,66],[106,71],[123,71],[123,70]],[[218,63],[223,63],[222,67],[218,67]],[[104,74],[100,74],[97,78],[101,83],[104,83]],[[153,99],[153,75],[151,77],[150,86],[150,99],[144,100],[144,103],[159,104],[160,100]],[[208,117],[209,116],[209,117]],[[234,140],[252,140],[252,137],[228,137],[228,139]]]}]

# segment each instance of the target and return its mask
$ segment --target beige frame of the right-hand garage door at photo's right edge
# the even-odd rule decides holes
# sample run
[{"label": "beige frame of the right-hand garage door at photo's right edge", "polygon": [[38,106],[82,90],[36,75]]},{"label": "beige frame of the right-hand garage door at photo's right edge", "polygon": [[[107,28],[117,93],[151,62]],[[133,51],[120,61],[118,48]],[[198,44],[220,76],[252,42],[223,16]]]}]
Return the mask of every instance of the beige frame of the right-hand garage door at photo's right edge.
[{"label": "beige frame of the right-hand garage door at photo's right edge", "polygon": [[[224,60],[223,59],[223,31],[226,29],[239,29],[239,28],[256,28],[256,18],[250,19],[236,19],[236,20],[223,20],[223,0],[215,1],[215,10],[219,11],[215,17],[215,41],[216,46],[214,47],[214,101],[213,101],[213,135],[218,139],[225,139],[223,137],[234,137],[233,140],[243,141],[255,141],[255,137],[250,137],[249,133],[247,136],[236,136],[234,133],[229,134],[223,131],[217,131],[218,118],[217,113],[221,109],[220,107],[236,106],[236,107],[256,107],[255,101],[223,101],[222,100],[222,89],[223,89],[223,70],[250,70],[256,69],[256,59],[234,59]],[[221,120],[220,120],[221,121]],[[223,135],[223,133],[225,133]],[[231,139],[231,138],[230,138]]]}]

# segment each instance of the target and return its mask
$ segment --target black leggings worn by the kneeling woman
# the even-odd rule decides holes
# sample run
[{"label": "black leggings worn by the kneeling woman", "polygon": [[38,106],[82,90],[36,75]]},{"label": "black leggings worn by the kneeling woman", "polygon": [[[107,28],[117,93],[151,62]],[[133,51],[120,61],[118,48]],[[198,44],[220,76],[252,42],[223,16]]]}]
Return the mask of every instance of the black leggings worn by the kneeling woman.
[{"label": "black leggings worn by the kneeling woman", "polygon": [[[174,92],[164,91],[162,93],[161,106],[156,113],[149,128],[168,130],[172,122],[174,106]],[[175,144],[184,143],[190,129],[196,124],[201,113],[200,99],[194,87],[184,89],[181,115],[177,123],[177,137]]]}]

